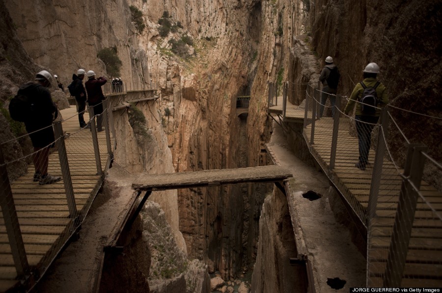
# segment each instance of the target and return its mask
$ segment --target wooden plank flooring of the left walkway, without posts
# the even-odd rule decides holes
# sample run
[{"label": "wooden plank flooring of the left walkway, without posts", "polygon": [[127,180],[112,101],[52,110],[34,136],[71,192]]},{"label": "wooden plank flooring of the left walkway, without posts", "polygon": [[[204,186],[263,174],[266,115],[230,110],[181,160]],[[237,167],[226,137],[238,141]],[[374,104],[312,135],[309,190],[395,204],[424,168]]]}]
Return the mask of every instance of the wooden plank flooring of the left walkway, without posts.
[{"label": "wooden plank flooring of the left walkway, without posts", "polygon": [[[100,178],[97,175],[91,131],[80,131],[76,107],[61,110],[63,131],[69,134],[65,140],[69,167],[78,213],[84,214],[95,196]],[[89,120],[86,113],[84,119]],[[107,160],[105,131],[98,132],[101,164],[104,169]],[[61,176],[58,154],[49,156],[49,173]],[[38,185],[33,182],[33,165],[28,173],[11,183],[14,203],[25,243],[28,263],[36,269],[46,269],[60,248],[71,235],[75,224],[69,218],[63,180],[50,185]],[[78,224],[78,223],[77,223]],[[11,288],[17,280],[11,248],[9,245],[4,220],[0,218],[0,292]]]}]

